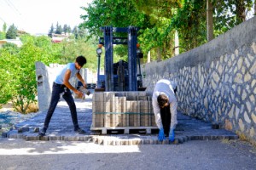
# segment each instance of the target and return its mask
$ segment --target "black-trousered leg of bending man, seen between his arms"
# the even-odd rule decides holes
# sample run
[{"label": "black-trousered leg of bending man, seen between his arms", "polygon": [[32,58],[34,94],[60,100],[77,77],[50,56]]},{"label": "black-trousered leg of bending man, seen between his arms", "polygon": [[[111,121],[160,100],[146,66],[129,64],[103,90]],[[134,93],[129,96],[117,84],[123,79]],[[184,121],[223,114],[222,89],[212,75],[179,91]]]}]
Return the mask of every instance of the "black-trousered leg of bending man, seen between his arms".
[{"label": "black-trousered leg of bending man, seen between his arms", "polygon": [[169,135],[170,131],[170,125],[171,125],[171,111],[170,111],[170,105],[160,109],[160,116],[162,120],[162,124],[164,127],[164,131],[166,136]]}]

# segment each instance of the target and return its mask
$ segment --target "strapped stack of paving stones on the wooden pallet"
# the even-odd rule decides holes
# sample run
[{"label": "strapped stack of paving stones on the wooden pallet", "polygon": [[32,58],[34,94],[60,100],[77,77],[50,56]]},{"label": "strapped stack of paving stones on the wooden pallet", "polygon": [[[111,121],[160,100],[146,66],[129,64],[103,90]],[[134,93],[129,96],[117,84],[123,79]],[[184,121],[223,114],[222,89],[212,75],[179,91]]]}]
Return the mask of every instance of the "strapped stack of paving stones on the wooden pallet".
[{"label": "strapped stack of paving stones on the wooden pallet", "polygon": [[152,93],[94,93],[92,127],[156,127]]}]

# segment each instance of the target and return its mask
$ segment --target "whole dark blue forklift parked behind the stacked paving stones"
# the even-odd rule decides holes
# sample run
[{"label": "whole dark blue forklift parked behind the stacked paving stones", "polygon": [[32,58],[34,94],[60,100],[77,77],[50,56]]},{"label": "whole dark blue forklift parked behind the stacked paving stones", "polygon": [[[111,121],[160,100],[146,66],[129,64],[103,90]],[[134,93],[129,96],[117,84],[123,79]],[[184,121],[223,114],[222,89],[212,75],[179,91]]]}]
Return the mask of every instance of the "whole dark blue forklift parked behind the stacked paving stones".
[{"label": "whole dark blue forklift parked behind the stacked paving stones", "polygon": [[[145,91],[140,66],[143,53],[137,43],[138,30],[136,26],[101,27],[104,37],[99,38],[99,45],[96,49],[98,57],[96,92]],[[125,32],[127,37],[114,37],[113,32]],[[128,62],[120,59],[119,62],[113,63],[113,44],[128,46]],[[105,48],[104,75],[100,74],[102,46]]]}]

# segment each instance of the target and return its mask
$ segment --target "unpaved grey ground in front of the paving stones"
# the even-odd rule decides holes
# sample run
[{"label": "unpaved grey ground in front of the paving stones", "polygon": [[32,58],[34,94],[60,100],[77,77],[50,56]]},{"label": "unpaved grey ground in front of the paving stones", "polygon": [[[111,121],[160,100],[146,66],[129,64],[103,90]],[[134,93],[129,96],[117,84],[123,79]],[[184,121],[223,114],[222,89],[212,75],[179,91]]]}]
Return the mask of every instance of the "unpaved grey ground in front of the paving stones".
[{"label": "unpaved grey ground in front of the paving stones", "polygon": [[255,148],[240,140],[103,146],[84,142],[0,138],[1,170],[255,168]]}]

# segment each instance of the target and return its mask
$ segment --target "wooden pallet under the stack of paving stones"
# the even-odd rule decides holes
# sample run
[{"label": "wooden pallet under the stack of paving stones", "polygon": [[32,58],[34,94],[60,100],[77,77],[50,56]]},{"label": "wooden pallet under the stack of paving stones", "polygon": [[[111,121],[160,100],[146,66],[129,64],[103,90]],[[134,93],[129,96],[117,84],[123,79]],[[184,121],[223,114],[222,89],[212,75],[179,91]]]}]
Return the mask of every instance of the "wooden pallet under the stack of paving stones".
[{"label": "wooden pallet under the stack of paving stones", "polygon": [[146,133],[151,134],[152,130],[158,130],[158,127],[90,127],[91,131],[100,131],[102,134],[107,133]]}]

